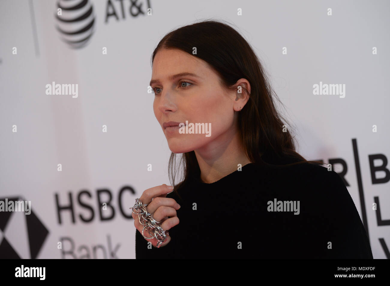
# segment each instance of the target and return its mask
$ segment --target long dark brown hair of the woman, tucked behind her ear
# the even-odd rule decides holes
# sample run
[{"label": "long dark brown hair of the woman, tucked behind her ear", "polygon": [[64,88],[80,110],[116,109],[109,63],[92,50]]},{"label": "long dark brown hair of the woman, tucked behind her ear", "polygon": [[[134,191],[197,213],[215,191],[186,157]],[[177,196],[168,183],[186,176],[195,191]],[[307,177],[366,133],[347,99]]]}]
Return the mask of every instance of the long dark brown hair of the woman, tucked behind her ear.
[{"label": "long dark brown hair of the woman, tucked behind her ear", "polygon": [[[193,47],[197,53],[193,54]],[[275,108],[275,98],[280,99],[271,88],[263,67],[248,42],[229,25],[222,21],[207,20],[183,26],[165,35],[152,54],[160,49],[180,49],[206,61],[220,76],[221,84],[227,89],[237,90],[236,82],[245,78],[250,83],[250,96],[245,107],[238,112],[238,130],[248,159],[252,163],[266,165],[295,165],[301,163],[322,164],[321,161],[307,161],[295,151],[295,144],[287,121]],[[248,93],[245,86],[244,92]],[[282,102],[280,102],[282,105]],[[284,126],[285,125],[285,126]],[[285,132],[284,132],[285,131]],[[265,154],[266,156],[262,156]],[[264,160],[267,158],[267,160]],[[277,164],[282,158],[293,163]],[[175,175],[183,163],[184,179],[175,186]],[[175,191],[185,184],[190,174],[200,175],[200,168],[194,151],[183,153],[177,162],[176,154],[171,153],[168,172]]]}]

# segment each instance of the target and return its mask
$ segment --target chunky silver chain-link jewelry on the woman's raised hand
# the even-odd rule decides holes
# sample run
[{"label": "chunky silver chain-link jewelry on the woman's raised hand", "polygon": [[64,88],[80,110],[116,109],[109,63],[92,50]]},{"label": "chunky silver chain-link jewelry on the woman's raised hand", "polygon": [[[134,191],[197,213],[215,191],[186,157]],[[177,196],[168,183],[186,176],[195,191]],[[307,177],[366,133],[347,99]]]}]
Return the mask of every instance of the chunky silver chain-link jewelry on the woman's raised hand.
[{"label": "chunky silver chain-link jewelry on the woman's raised hand", "polygon": [[[152,215],[147,212],[147,205],[149,204],[144,205],[139,198],[136,198],[134,206],[130,209],[133,209],[133,212],[138,215],[138,221],[144,226],[142,229],[142,236],[147,240],[157,239],[157,248],[160,248],[161,244],[167,240],[169,233],[167,230],[161,228],[161,221],[156,221]],[[144,235],[145,228],[151,237],[146,237]]]}]

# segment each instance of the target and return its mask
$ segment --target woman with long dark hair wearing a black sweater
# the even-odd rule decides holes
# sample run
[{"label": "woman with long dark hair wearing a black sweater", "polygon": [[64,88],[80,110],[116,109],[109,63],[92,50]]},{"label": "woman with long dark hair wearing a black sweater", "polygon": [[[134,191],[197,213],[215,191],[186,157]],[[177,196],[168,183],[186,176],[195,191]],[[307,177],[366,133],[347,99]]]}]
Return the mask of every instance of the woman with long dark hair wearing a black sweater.
[{"label": "woman with long dark hair wearing a black sweater", "polygon": [[[148,232],[133,209],[136,258],[372,258],[342,179],[296,153],[236,30],[202,21],[168,33],[152,54],[150,86],[175,187],[139,198],[156,224]],[[177,153],[184,179],[175,185]]]}]

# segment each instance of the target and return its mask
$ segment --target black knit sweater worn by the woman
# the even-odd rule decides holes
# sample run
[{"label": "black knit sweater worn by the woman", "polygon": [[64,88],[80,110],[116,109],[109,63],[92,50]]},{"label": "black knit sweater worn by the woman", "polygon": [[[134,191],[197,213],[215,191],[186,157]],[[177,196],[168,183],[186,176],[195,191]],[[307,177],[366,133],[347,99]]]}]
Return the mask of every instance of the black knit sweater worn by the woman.
[{"label": "black knit sweater worn by the woman", "polygon": [[167,195],[181,205],[171,241],[150,249],[136,230],[137,259],[372,259],[346,186],[325,167],[250,163],[211,184],[190,177],[178,192]]}]

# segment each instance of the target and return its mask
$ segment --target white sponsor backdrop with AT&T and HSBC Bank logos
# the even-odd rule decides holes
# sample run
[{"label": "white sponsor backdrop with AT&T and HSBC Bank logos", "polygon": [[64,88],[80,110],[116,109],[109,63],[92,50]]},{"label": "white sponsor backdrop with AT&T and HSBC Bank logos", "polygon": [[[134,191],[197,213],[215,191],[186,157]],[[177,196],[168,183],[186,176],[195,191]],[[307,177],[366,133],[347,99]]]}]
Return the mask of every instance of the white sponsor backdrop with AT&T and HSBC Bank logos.
[{"label": "white sponsor backdrop with AT&T and HSBC Bank logos", "polygon": [[332,164],[374,258],[390,258],[389,6],[2,0],[0,258],[135,258],[129,207],[170,184],[151,55],[202,19],[232,23],[252,45],[298,152]]}]

